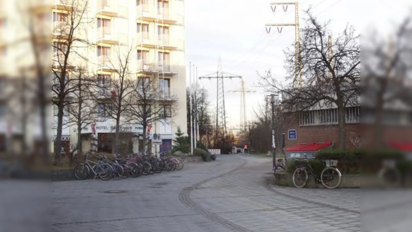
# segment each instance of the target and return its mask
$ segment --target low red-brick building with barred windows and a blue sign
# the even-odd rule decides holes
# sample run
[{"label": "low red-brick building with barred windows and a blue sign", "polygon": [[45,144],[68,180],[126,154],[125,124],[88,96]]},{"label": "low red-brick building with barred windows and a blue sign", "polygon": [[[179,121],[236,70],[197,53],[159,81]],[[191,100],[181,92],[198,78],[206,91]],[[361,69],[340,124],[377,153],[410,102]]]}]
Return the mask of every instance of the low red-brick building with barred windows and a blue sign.
[{"label": "low red-brick building with barred windows and a blue sign", "polygon": [[[362,107],[362,124],[360,121],[361,107],[346,108],[346,149],[360,147],[363,141],[373,140],[375,126],[374,114]],[[410,111],[386,110],[383,118],[383,141],[412,142],[412,114]],[[295,112],[286,115],[283,133],[285,147],[299,143],[335,142],[339,146],[337,108],[314,109]]]}]

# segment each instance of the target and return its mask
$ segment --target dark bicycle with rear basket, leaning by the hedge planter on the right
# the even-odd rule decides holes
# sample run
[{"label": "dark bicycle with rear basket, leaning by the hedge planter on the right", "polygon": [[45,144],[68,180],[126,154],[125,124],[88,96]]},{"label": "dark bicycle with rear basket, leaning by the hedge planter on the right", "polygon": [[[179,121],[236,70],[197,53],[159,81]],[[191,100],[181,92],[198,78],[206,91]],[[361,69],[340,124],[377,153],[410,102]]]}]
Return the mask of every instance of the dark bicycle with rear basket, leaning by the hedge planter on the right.
[{"label": "dark bicycle with rear basket, leaning by the hedge planter on the right", "polygon": [[[302,162],[297,162],[297,168],[293,172],[293,185],[297,188],[305,187],[309,175],[311,175],[315,178],[316,184],[322,183],[322,185],[328,189],[338,187],[342,179],[342,174],[339,169],[337,169],[337,160],[324,160],[322,162],[325,165],[325,168],[323,168],[321,175],[318,175],[310,166],[305,154],[305,159]],[[335,181],[335,184],[331,184],[333,181]]]}]

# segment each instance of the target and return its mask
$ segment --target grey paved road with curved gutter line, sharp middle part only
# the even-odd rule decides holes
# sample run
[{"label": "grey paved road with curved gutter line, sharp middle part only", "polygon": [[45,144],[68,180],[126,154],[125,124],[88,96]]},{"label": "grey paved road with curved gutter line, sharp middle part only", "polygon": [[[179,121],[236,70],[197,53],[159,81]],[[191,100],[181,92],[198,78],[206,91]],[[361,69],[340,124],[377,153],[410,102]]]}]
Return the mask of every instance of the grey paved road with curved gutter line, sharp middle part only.
[{"label": "grey paved road with curved gutter line, sharp middle part only", "polygon": [[[58,232],[354,232],[361,189],[264,185],[267,158],[218,156],[125,180],[53,182]],[[123,193],[105,193],[123,190]],[[403,194],[402,194],[403,195]],[[372,209],[373,211],[373,209]],[[398,223],[399,224],[399,223]]]}]

